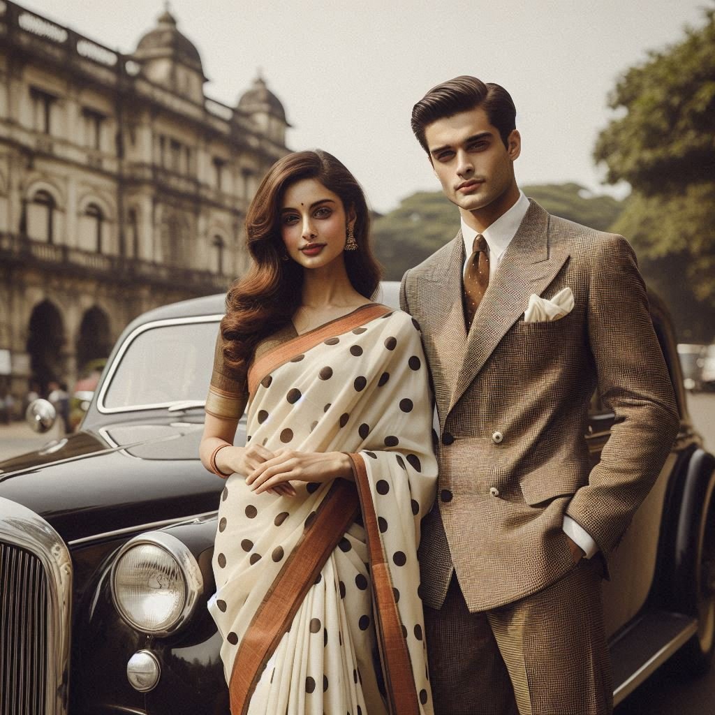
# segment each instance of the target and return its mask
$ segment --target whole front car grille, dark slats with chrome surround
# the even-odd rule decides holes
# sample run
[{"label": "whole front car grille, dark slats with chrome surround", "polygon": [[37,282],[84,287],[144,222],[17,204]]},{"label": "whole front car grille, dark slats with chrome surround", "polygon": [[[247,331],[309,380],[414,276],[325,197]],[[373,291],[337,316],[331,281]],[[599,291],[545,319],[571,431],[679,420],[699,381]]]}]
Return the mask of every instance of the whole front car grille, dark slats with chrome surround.
[{"label": "whole front car grille, dark slats with chrome surround", "polygon": [[0,497],[0,715],[66,715],[71,596],[66,543]]}]

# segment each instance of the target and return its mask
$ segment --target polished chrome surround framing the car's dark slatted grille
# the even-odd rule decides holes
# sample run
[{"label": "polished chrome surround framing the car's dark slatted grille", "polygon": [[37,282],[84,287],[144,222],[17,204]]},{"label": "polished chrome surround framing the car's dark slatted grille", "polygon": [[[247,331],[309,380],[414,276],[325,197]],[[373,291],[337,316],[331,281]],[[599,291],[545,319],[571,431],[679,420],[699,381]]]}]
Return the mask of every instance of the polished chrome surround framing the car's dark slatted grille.
[{"label": "polished chrome surround framing the car's dark slatted grille", "polygon": [[72,599],[69,550],[43,518],[3,497],[0,497],[0,541],[32,553],[46,573],[49,601],[46,706],[53,715],[66,715]]}]

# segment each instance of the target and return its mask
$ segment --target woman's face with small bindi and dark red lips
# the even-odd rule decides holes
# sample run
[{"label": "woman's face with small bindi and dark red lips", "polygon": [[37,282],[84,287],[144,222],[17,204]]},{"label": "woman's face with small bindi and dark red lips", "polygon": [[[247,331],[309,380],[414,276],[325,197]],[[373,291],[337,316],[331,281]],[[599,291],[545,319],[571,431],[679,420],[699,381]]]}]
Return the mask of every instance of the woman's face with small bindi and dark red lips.
[{"label": "woman's face with small bindi and dark red lips", "polygon": [[280,232],[288,255],[304,268],[342,260],[348,223],[342,200],[317,179],[301,179],[286,189],[280,207]]}]

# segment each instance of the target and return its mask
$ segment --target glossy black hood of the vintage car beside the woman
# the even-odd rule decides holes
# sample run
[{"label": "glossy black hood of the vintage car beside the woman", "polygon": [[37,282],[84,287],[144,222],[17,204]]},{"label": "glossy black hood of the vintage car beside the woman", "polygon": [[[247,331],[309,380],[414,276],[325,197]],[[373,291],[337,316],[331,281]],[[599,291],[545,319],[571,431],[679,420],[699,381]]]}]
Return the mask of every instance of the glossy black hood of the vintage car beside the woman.
[{"label": "glossy black hood of the vintage car beside the woman", "polygon": [[199,461],[200,423],[83,430],[0,462],[0,498],[65,541],[214,511],[222,480]]}]

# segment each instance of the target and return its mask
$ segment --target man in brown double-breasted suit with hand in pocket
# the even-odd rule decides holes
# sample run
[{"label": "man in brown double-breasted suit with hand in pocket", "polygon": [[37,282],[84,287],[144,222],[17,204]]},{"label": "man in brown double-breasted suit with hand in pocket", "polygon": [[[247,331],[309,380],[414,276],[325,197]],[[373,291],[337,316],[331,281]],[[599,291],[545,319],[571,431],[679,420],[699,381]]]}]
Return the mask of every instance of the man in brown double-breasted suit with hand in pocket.
[{"label": "man in brown double-breasted suit with hand in pocket", "polygon": [[[413,109],[461,215],[400,295],[440,429],[420,546],[430,679],[438,715],[601,715],[603,568],[679,418],[631,247],[524,197],[515,117],[508,92],[475,77]],[[596,388],[616,420],[591,468]]]}]

